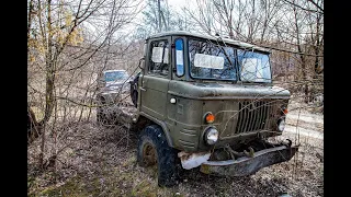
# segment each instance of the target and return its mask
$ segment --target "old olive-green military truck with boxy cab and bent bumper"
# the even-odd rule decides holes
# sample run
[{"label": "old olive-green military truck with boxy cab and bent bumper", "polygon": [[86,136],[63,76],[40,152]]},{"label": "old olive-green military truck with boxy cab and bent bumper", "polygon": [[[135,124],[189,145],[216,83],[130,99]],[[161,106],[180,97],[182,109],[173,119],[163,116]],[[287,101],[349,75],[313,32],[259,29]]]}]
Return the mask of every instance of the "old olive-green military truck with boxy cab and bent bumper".
[{"label": "old olive-green military truck with boxy cab and bent bumper", "polygon": [[[282,135],[290,100],[287,90],[272,83],[268,49],[220,36],[165,32],[146,39],[139,68],[129,81],[134,107],[118,106],[110,117],[138,132],[137,162],[157,165],[159,186],[177,184],[182,172],[195,167],[214,175],[251,175],[291,160],[298,150],[288,139],[268,140]],[[106,103],[106,95],[98,101]]]}]

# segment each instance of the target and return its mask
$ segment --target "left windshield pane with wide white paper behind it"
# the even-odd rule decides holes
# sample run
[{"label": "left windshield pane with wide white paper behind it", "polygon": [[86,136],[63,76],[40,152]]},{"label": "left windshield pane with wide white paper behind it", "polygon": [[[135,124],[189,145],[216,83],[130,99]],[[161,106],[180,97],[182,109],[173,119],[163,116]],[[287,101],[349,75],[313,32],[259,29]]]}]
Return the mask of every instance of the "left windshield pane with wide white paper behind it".
[{"label": "left windshield pane with wide white paper behind it", "polygon": [[237,80],[235,48],[210,40],[189,40],[190,71],[193,78]]}]

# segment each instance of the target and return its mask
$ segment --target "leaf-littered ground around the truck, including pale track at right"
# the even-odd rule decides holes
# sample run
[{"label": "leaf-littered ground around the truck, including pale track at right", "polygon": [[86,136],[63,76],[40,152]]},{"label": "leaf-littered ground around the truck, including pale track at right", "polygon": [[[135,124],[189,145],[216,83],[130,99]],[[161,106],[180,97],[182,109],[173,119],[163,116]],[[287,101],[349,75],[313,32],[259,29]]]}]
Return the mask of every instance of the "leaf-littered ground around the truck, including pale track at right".
[{"label": "leaf-littered ground around the truck, including pale track at right", "polygon": [[[152,167],[136,164],[136,135],[123,126],[101,127],[93,120],[66,123],[57,143],[56,170],[36,167],[39,140],[27,150],[29,196],[324,196],[322,115],[291,112],[286,131],[299,152],[288,162],[264,167],[249,177],[215,177],[189,171],[183,183],[157,186]],[[298,119],[298,120],[297,120]],[[296,126],[297,125],[297,126]],[[50,134],[48,134],[50,135]],[[52,138],[47,138],[52,139]],[[53,149],[53,148],[56,148]]]}]

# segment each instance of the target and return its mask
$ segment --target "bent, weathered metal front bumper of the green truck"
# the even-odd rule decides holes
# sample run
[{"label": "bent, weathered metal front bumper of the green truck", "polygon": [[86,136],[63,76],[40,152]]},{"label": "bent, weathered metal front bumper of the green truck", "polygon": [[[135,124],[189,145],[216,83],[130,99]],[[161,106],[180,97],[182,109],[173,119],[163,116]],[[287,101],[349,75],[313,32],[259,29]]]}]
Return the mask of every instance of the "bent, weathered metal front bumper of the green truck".
[{"label": "bent, weathered metal front bumper of the green truck", "polygon": [[280,146],[254,152],[252,158],[241,157],[237,160],[206,161],[200,171],[219,176],[247,176],[262,167],[291,160],[298,147]]}]

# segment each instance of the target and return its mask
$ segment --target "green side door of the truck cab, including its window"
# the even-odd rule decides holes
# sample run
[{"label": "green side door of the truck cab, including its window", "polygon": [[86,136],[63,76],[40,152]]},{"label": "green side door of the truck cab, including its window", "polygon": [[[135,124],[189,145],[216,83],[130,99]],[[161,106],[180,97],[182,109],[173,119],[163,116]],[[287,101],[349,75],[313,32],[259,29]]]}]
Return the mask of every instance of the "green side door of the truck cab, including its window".
[{"label": "green side door of the truck cab, including its window", "polygon": [[149,39],[145,70],[140,84],[140,112],[165,120],[167,118],[167,92],[171,79],[171,39]]}]

